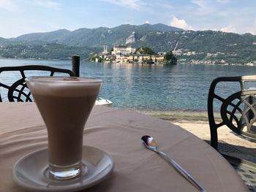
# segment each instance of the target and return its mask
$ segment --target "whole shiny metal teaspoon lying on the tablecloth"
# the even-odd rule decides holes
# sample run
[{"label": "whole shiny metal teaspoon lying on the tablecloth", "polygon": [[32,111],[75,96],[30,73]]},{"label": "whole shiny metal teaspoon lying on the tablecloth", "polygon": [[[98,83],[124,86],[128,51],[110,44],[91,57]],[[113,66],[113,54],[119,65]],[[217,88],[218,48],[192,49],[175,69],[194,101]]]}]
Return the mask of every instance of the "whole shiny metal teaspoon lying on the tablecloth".
[{"label": "whole shiny metal teaspoon lying on the tablecloth", "polygon": [[181,166],[179,166],[175,161],[173,161],[173,159],[171,159],[165,153],[162,153],[161,151],[157,150],[157,144],[156,144],[156,141],[154,140],[153,137],[150,137],[148,135],[144,135],[143,137],[141,137],[141,142],[143,142],[143,144],[149,150],[154,150],[154,152],[157,152],[157,153],[160,153],[162,155],[165,155],[165,157],[167,157],[169,159],[170,163],[173,164],[173,166],[175,166],[175,168],[178,170],[178,172],[180,172],[187,180],[189,180],[190,183],[195,185],[195,187],[197,189],[199,189],[200,191],[207,192],[199,183],[197,183],[195,181],[195,179],[193,177],[190,176],[190,174],[188,174]]}]

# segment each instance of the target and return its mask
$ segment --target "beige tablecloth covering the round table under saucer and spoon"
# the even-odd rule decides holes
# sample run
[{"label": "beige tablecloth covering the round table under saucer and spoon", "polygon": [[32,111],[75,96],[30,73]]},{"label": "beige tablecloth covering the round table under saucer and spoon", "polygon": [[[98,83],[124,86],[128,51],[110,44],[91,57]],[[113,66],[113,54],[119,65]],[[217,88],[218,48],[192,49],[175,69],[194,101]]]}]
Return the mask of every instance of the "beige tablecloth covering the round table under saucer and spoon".
[{"label": "beige tablecloth covering the round table under saucer and spoon", "polygon": [[[197,192],[165,158],[147,150],[148,134],[208,192],[247,191],[241,178],[216,150],[179,126],[129,110],[94,107],[83,144],[113,156],[113,173],[85,191]],[[34,103],[0,103],[0,191],[25,191],[12,181],[19,158],[47,147],[47,131]]]}]

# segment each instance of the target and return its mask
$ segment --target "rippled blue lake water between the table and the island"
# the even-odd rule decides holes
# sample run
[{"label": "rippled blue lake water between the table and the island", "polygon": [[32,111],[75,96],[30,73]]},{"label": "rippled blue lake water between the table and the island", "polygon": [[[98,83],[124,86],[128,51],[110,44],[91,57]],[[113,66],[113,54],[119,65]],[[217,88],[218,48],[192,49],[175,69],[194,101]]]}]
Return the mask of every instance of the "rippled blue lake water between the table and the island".
[{"label": "rippled blue lake water between the table and the island", "polygon": [[[72,70],[72,61],[0,59],[0,66],[35,64]],[[256,74],[256,66],[167,66],[80,61],[80,77],[104,80],[99,96],[113,101],[113,107],[130,110],[206,110],[208,88],[214,78],[252,74]],[[1,81],[7,81],[7,77],[1,76]]]}]

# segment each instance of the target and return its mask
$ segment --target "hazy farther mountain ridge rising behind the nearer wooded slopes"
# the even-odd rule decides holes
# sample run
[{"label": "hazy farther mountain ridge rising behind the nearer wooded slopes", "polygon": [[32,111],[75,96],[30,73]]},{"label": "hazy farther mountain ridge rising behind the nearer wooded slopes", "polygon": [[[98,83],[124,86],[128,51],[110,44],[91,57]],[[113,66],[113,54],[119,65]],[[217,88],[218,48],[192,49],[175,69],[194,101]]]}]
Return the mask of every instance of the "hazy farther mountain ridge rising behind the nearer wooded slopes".
[{"label": "hazy farther mountain ridge rising behind the nearer wooded slopes", "polygon": [[166,26],[158,23],[154,25],[143,24],[141,26],[121,25],[114,28],[79,28],[75,31],[60,29],[45,33],[24,34],[20,37],[12,39],[13,41],[45,41],[50,43],[58,43],[60,45],[78,46],[78,47],[102,47],[102,45],[118,45],[125,44],[127,37],[132,32],[135,34],[148,32],[167,32],[167,31],[184,31],[181,28]]}]

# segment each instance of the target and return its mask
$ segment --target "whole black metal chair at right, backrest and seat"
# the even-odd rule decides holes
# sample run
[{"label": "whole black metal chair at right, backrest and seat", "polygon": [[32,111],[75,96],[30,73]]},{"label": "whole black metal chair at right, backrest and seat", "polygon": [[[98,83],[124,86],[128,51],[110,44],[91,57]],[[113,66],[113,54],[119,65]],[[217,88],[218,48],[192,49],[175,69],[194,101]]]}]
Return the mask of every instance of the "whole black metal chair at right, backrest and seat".
[{"label": "whole black metal chair at right, backrest and seat", "polygon": [[[213,80],[208,93],[208,120],[211,146],[216,150],[219,149],[217,131],[221,126],[227,126],[241,137],[256,142],[256,75]],[[256,191],[256,164],[227,153],[222,155],[240,174],[249,191]]]}]

